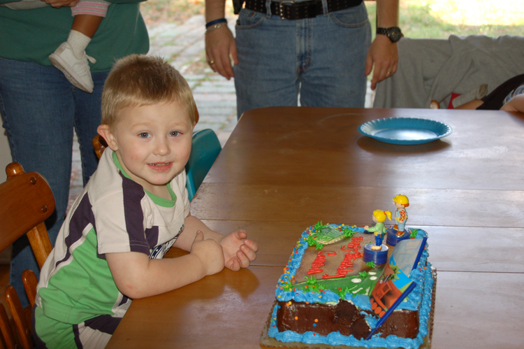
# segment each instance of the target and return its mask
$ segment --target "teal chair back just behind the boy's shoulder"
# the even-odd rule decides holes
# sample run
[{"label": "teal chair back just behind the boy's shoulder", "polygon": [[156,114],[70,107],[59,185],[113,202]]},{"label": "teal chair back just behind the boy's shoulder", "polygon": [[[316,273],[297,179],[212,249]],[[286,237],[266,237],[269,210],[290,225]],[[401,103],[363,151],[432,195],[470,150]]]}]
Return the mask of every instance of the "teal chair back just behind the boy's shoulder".
[{"label": "teal chair back just behind the boy's shoulder", "polygon": [[201,129],[193,134],[191,155],[186,164],[189,201],[195,196],[196,190],[202,184],[220,150],[222,147],[217,134],[212,129]]}]

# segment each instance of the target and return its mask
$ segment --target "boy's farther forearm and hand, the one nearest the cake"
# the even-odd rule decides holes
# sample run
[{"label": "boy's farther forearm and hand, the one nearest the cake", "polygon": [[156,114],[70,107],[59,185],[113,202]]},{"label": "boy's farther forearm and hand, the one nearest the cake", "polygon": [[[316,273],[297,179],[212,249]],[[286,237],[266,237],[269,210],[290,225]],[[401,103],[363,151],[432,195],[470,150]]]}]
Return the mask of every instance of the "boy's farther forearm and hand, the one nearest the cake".
[{"label": "boy's farther forearm and hand, the one nearest the cake", "polygon": [[240,268],[247,268],[251,261],[256,258],[256,251],[259,246],[247,238],[243,230],[237,230],[226,236],[214,232],[198,218],[188,215],[184,222],[184,231],[177,238],[174,246],[187,250],[191,239],[197,231],[204,234],[204,238],[212,238],[218,241],[224,250],[224,263],[226,268],[238,271]]}]

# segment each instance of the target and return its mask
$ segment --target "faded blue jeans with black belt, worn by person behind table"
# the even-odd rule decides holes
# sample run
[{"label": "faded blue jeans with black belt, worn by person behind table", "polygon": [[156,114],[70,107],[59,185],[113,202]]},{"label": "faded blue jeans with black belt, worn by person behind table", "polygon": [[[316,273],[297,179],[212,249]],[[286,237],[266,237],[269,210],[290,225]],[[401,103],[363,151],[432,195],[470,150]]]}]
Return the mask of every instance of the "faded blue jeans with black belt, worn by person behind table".
[{"label": "faded blue jeans with black belt, worn by person behind table", "polygon": [[[324,6],[326,8],[326,6]],[[364,3],[305,20],[242,9],[236,25],[238,117],[265,106],[363,108],[371,26]]]}]

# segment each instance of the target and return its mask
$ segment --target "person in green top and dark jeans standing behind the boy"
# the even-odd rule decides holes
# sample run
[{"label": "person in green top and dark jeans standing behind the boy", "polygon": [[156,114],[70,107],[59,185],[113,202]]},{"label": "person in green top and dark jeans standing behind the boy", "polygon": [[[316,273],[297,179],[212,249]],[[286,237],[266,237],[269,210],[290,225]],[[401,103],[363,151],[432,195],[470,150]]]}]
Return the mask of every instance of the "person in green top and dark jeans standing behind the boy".
[{"label": "person in green top and dark jeans standing behind the boy", "polygon": [[[94,91],[89,94],[71,85],[48,58],[71,31],[73,17],[67,6],[76,1],[47,2],[51,6],[32,10],[0,6],[0,115],[13,161],[26,172],[43,174],[50,183],[56,209],[46,226],[54,245],[68,204],[73,129],[80,142],[85,184],[97,166],[92,138],[101,122],[105,78],[115,59],[146,53],[149,38],[139,0],[112,0],[119,5],[108,7],[108,20],[86,49],[87,55],[97,57],[91,66]],[[22,306],[29,304],[22,285],[25,269],[38,276],[38,264],[23,236],[13,244],[10,269],[10,285]]]}]

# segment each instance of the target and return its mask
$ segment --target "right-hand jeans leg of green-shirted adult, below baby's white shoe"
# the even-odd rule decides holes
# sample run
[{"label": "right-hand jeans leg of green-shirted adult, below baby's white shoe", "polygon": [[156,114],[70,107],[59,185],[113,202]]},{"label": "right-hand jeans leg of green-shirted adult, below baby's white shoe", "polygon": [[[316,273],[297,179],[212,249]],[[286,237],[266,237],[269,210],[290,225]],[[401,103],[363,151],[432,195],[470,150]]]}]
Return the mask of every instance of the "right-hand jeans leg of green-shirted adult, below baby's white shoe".
[{"label": "right-hand jeans leg of green-shirted adult, below baby's white shoe", "polygon": [[94,89],[92,94],[76,90],[75,99],[75,131],[80,143],[80,156],[82,159],[82,173],[84,185],[94,173],[99,164],[98,157],[93,148],[93,137],[96,136],[96,128],[101,122],[102,90],[105,78],[109,71],[103,73],[92,73]]}]

